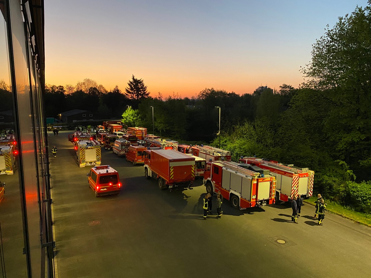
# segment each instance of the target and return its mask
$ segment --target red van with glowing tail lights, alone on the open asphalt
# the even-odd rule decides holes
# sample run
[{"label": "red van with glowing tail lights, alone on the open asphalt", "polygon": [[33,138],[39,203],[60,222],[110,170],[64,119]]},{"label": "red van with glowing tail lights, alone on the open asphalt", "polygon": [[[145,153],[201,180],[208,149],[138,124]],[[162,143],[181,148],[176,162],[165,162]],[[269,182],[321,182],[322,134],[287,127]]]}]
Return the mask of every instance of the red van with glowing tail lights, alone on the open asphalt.
[{"label": "red van with glowing tail lights, alone on the open asphalt", "polygon": [[89,187],[95,192],[95,197],[120,193],[121,183],[118,172],[109,165],[95,166],[90,169]]}]

